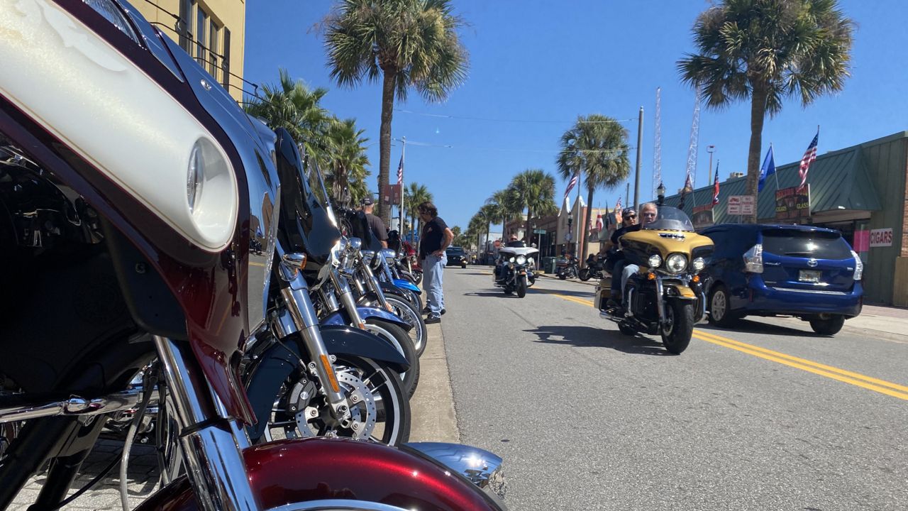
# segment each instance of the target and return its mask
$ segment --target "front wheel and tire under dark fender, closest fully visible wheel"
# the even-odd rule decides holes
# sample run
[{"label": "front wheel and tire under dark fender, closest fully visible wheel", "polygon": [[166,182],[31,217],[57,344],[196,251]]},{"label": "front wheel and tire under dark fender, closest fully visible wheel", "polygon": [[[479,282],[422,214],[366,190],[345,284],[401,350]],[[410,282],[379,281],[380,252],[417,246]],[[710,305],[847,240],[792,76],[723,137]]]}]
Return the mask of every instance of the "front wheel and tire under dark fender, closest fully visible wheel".
[{"label": "front wheel and tire under dark fender, closest fully visible wheel", "polygon": [[[303,361],[305,365],[306,361]],[[364,384],[372,396],[374,416],[370,420],[375,423],[369,432],[368,439],[387,444],[400,446],[410,440],[410,401],[400,387],[400,376],[386,363],[372,360],[362,356],[339,355],[334,363],[341,386],[349,392],[350,386],[344,383],[344,375],[353,376]],[[356,437],[352,427],[344,428],[340,425],[330,424],[326,417],[328,403],[321,394],[319,384],[311,379],[308,371],[301,370],[299,366],[289,366],[287,377],[281,386],[274,389],[271,401],[271,416],[259,417],[266,420],[267,426],[262,436],[250,438],[253,444],[261,444],[281,438],[306,438],[311,436]],[[255,377],[253,373],[252,378]],[[367,383],[368,382],[368,383]],[[303,397],[303,396],[306,397]],[[299,401],[304,401],[301,405]],[[357,416],[370,413],[369,404],[364,399],[356,403],[348,400],[350,411]],[[307,410],[315,411],[316,416],[305,419],[304,429],[297,422],[298,414],[305,414]]]}]

